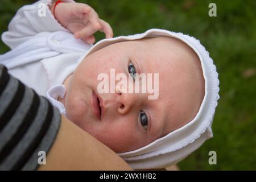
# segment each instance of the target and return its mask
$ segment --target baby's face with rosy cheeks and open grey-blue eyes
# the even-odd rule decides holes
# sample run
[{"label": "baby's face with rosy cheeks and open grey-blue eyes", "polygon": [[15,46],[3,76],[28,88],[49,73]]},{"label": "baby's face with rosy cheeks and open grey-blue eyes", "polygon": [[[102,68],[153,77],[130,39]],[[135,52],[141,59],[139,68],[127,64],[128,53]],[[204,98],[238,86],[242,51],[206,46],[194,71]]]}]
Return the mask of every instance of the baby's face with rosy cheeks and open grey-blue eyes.
[{"label": "baby's face with rosy cheeks and open grey-blue eyes", "polygon": [[[159,96],[148,93],[99,93],[98,75],[133,71],[159,74]],[[153,77],[154,78],[154,77]],[[154,85],[154,79],[152,80]],[[117,83],[117,82],[116,82]],[[91,109],[101,97],[101,118]],[[115,43],[85,57],[71,76],[64,105],[67,117],[115,152],[141,148],[191,121],[204,97],[204,79],[196,53],[167,37]]]}]

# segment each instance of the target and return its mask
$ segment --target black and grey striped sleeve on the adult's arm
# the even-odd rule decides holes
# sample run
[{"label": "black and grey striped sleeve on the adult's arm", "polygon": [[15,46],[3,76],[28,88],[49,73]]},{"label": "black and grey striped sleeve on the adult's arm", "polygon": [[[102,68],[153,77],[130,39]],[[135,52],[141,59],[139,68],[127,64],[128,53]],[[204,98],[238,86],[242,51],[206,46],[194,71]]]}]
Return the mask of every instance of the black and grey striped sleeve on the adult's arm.
[{"label": "black and grey striped sleeve on the adult's arm", "polygon": [[0,170],[35,170],[59,125],[59,110],[0,64]]}]

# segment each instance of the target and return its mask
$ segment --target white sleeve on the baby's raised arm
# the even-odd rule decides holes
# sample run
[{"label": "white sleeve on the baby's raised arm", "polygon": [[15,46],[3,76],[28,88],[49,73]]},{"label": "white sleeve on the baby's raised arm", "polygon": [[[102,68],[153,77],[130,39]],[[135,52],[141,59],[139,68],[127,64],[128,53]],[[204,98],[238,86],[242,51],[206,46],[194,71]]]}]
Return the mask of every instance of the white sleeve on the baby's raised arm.
[{"label": "white sleeve on the baby's raised arm", "polygon": [[3,32],[3,42],[14,49],[40,32],[68,31],[52,15],[48,7],[51,3],[49,0],[40,0],[21,7],[9,23],[8,31]]}]

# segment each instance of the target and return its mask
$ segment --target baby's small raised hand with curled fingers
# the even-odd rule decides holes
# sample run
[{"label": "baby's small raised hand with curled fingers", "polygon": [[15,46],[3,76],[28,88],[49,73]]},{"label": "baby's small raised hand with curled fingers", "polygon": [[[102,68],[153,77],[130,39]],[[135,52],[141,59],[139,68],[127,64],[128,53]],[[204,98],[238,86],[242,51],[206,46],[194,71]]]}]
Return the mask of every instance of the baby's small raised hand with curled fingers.
[{"label": "baby's small raised hand with curled fingers", "polygon": [[96,11],[84,3],[59,3],[55,8],[55,18],[71,31],[75,38],[80,38],[89,44],[95,42],[93,34],[98,30],[104,32],[106,38],[113,37],[113,30],[109,23],[100,19]]}]

